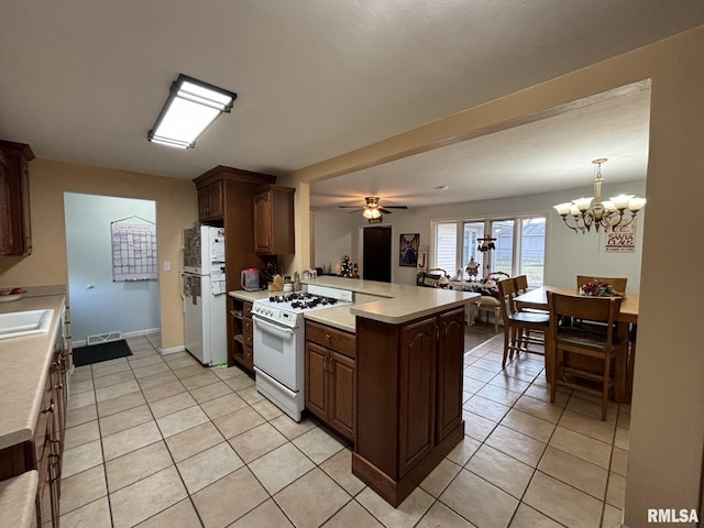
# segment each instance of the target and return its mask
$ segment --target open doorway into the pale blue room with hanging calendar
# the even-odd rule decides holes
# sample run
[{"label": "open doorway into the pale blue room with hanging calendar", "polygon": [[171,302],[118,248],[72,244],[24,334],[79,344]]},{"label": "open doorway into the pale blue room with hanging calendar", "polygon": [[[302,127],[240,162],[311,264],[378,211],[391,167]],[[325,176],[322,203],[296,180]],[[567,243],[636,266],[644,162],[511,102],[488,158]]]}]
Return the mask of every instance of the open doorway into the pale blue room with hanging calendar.
[{"label": "open doorway into the pale blue room with hanging calendar", "polygon": [[113,240],[117,220],[154,224],[156,202],[65,193],[64,220],[74,345],[158,332],[157,270],[144,270],[147,258],[156,262],[156,233],[148,249],[134,235]]}]

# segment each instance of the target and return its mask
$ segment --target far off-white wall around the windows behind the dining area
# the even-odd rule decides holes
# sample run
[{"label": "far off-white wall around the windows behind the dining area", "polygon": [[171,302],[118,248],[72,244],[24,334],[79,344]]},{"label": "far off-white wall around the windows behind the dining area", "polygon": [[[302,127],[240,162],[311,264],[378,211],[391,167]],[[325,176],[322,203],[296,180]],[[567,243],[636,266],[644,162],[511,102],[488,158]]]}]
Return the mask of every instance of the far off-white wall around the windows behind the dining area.
[{"label": "far off-white wall around the windows behind the dining area", "polygon": [[[588,176],[588,175],[587,175]],[[588,179],[588,177],[586,178]],[[605,184],[605,194],[615,196],[620,193],[645,196],[646,183]],[[640,284],[640,261],[642,252],[642,231],[647,215],[646,208],[638,213],[636,231],[636,251],[634,253],[605,253],[603,235],[594,232],[575,234],[564,227],[562,218],[554,212],[552,206],[579,196],[591,196],[591,186],[572,190],[561,190],[541,195],[525,195],[495,200],[470,201],[444,206],[411,208],[407,211],[394,211],[384,217],[384,224],[393,226],[393,277],[395,283],[415,284],[416,270],[398,265],[398,238],[400,233],[420,233],[420,244],[432,249],[431,220],[454,218],[484,218],[496,215],[520,215],[542,212],[548,215],[548,248],[546,260],[546,284],[572,287],[576,275],[594,275],[604,277],[627,277],[628,292],[638,292]],[[356,216],[354,216],[356,218]],[[328,258],[333,264],[343,254],[350,254],[359,262],[358,235],[353,233],[359,226],[366,224],[361,215],[356,221],[350,222],[349,216],[334,211],[315,212],[315,252],[318,258]],[[432,265],[433,255],[429,255]],[[326,261],[327,262],[327,261]],[[316,264],[319,265],[319,264]],[[448,270],[448,273],[451,273]]]}]

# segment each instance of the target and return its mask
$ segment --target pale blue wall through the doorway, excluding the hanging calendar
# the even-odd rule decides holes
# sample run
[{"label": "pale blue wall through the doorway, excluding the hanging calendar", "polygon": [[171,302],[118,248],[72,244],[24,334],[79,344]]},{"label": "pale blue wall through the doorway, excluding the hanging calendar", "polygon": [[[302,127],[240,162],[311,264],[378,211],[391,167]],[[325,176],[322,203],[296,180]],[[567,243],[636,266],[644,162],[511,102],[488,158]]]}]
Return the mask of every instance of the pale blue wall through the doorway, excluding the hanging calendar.
[{"label": "pale blue wall through the doorway, excluding the hanging calendar", "polygon": [[[112,282],[110,222],[138,216],[156,221],[152,200],[65,193],[72,337],[158,329],[158,282]],[[157,233],[158,235],[158,233]]]}]

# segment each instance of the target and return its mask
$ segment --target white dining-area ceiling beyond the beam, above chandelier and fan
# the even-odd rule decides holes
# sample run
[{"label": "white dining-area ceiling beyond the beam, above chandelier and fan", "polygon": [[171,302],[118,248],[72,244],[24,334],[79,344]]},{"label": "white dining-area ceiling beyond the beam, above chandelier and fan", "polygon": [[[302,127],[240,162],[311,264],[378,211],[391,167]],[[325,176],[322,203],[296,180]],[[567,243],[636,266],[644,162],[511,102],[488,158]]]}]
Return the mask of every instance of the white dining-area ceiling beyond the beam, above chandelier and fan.
[{"label": "white dining-area ceiling beyond the beam, above chandelier and fan", "polygon": [[608,160],[602,166],[607,184],[645,179],[650,90],[642,85],[528,124],[317,183],[311,206],[336,210],[364,204],[360,190],[382,197],[382,206],[413,207],[588,186],[597,157]]}]

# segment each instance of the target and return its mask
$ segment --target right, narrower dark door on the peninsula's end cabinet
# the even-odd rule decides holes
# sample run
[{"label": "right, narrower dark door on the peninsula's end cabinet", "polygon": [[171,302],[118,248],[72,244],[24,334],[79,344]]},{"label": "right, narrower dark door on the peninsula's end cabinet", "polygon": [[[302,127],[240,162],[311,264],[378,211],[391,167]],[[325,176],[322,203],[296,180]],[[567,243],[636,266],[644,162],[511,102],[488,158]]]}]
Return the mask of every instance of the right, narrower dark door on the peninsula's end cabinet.
[{"label": "right, narrower dark door on the peninsula's end cabinet", "polygon": [[438,318],[438,431],[441,441],[462,420],[462,372],[464,367],[464,309]]}]

